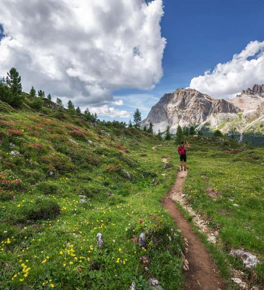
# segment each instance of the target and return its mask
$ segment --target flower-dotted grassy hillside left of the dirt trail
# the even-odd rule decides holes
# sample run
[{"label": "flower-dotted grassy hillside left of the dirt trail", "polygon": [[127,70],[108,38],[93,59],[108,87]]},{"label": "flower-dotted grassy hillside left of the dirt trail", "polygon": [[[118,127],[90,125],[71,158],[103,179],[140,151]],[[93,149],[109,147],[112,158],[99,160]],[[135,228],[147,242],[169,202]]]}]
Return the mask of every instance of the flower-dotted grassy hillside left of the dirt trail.
[{"label": "flower-dotted grassy hillside left of the dirt trail", "polygon": [[0,289],[148,289],[150,276],[180,288],[180,236],[159,204],[176,172],[161,159],[174,148],[154,151],[160,141],[138,129],[1,104]]}]

